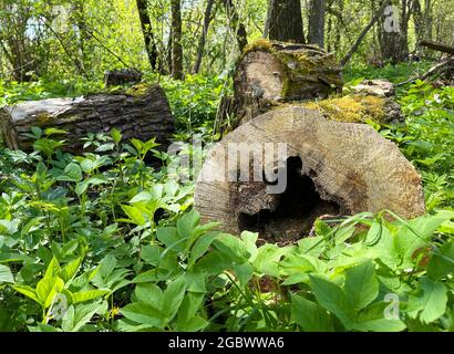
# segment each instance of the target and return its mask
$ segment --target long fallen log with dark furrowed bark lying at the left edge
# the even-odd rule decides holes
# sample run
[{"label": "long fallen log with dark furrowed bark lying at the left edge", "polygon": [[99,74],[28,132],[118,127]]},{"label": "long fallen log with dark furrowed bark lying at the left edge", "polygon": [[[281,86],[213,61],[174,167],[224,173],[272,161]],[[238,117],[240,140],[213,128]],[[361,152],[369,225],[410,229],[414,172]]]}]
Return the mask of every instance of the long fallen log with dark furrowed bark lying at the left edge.
[{"label": "long fallen log with dark furrowed bark lying at the left edge", "polygon": [[164,91],[145,84],[86,97],[23,102],[0,110],[0,137],[8,148],[31,150],[33,139],[27,133],[33,126],[66,131],[55,138],[65,139],[64,149],[76,154],[83,149],[81,138],[89,133],[117,128],[124,140],[156,137],[165,147],[174,131]]}]

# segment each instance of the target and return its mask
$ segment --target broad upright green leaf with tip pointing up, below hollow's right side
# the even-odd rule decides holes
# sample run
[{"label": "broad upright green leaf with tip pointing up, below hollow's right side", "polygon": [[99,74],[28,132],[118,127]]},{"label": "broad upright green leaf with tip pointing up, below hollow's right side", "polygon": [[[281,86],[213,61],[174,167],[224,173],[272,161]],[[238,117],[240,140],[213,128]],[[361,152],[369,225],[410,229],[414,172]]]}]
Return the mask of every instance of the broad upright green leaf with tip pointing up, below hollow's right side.
[{"label": "broad upright green leaf with tip pointing up, below hollow's right side", "polygon": [[364,309],[379,295],[379,281],[372,261],[345,271],[345,295],[355,310]]}]

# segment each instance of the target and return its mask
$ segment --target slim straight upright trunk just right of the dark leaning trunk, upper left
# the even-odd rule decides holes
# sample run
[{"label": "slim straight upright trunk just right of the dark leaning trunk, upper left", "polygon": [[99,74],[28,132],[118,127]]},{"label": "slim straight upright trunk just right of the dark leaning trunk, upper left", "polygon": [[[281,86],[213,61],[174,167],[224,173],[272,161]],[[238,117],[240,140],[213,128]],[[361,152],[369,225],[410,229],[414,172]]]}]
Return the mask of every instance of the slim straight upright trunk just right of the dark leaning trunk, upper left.
[{"label": "slim straight upright trunk just right of the dark leaning trunk, upper left", "polygon": [[182,9],[179,0],[172,0],[172,76],[183,79]]}]

